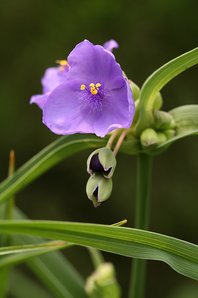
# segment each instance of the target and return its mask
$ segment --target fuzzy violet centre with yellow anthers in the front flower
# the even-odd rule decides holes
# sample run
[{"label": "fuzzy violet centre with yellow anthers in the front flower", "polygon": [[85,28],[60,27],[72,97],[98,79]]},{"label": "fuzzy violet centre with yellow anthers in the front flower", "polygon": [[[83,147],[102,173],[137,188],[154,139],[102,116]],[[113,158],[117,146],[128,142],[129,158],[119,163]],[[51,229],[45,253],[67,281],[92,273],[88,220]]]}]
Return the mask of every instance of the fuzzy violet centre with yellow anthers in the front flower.
[{"label": "fuzzy violet centre with yellow anthers in the front flower", "polygon": [[90,83],[86,86],[82,84],[79,91],[79,101],[83,107],[90,106],[91,111],[102,111],[102,107],[106,106],[107,97],[110,96],[110,90],[104,89],[101,83]]}]

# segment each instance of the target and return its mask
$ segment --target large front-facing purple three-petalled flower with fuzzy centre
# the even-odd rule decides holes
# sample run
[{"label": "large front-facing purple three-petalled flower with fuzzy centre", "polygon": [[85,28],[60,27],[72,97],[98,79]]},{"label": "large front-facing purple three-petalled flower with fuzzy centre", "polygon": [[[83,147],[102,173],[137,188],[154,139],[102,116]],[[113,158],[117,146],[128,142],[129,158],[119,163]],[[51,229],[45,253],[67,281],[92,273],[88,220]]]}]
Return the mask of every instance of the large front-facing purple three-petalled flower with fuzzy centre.
[{"label": "large front-facing purple three-petalled flower with fuzzy centre", "polygon": [[114,55],[85,40],[68,56],[66,80],[47,97],[43,123],[56,134],[104,137],[129,128],[135,113],[131,88]]}]

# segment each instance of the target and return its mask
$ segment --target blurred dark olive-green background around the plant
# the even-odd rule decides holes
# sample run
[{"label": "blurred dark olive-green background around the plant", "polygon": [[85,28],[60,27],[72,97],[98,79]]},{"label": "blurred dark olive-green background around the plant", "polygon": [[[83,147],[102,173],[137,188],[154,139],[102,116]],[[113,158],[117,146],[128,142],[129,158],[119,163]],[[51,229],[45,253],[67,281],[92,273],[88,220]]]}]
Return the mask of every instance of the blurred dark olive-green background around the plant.
[{"label": "blurred dark olive-green background around the plant", "polygon": [[[198,46],[197,13],[197,0],[1,1],[0,180],[7,176],[10,149],[15,150],[18,168],[58,138],[42,124],[37,105],[29,105],[32,94],[42,93],[40,79],[47,67],[56,66],[55,60],[66,59],[84,39],[102,45],[113,38],[120,46],[114,50],[117,62],[141,87],[161,65]],[[198,66],[193,66],[161,90],[164,111],[198,104],[197,73]],[[153,232],[195,244],[197,152],[197,136],[191,136],[154,158],[150,225]],[[17,194],[17,206],[31,219],[113,224],[126,218],[126,226],[133,227],[136,156],[118,153],[112,195],[94,208],[85,193],[90,153],[78,153],[45,173]],[[64,253],[84,277],[93,270],[84,248]],[[130,258],[110,253],[104,257],[115,264],[126,297]],[[184,297],[184,288],[197,287],[159,261],[148,261],[147,276],[146,298]]]}]

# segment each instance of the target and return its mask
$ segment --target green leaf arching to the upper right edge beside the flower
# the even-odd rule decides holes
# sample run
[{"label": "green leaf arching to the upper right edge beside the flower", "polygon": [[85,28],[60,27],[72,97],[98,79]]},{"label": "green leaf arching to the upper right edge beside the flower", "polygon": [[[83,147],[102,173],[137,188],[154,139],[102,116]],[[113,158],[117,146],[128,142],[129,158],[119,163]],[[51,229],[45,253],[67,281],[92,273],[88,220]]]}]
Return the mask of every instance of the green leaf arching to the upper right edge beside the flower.
[{"label": "green leaf arching to the upper right edge beside the flower", "polygon": [[136,136],[153,127],[153,102],[156,94],[174,77],[198,63],[198,48],[193,49],[161,66],[142,85],[140,91],[140,118],[136,124]]}]

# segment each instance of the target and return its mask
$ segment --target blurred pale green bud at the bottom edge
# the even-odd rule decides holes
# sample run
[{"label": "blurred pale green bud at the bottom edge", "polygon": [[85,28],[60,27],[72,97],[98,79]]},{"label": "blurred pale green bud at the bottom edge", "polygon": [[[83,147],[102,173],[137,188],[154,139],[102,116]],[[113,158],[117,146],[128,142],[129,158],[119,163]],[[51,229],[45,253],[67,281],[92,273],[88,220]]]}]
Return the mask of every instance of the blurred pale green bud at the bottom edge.
[{"label": "blurred pale green bud at the bottom edge", "polygon": [[120,298],[121,288],[112,263],[102,263],[86,280],[85,291],[90,298]]}]

